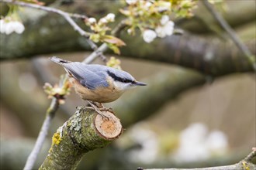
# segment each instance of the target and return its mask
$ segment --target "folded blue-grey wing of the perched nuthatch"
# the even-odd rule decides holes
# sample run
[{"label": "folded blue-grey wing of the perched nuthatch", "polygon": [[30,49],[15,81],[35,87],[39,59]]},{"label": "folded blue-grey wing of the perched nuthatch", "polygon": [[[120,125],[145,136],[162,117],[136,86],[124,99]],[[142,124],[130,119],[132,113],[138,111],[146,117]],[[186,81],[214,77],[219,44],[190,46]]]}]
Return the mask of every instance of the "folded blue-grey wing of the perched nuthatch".
[{"label": "folded blue-grey wing of the perched nuthatch", "polygon": [[96,87],[109,87],[106,74],[100,65],[89,65],[85,63],[72,62],[62,64],[68,73],[71,73],[81,85],[88,89]]}]

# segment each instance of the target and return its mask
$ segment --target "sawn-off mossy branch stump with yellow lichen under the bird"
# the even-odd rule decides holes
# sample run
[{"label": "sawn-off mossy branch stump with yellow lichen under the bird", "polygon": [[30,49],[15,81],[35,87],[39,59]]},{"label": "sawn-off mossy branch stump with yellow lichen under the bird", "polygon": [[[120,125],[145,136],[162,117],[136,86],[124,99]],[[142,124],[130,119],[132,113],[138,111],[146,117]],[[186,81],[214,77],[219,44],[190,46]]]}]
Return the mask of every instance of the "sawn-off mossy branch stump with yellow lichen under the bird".
[{"label": "sawn-off mossy branch stump with yellow lichen under the bird", "polygon": [[78,107],[54,134],[49,154],[39,169],[74,169],[86,152],[118,138],[123,132],[119,119],[110,112],[105,115],[108,118],[88,107]]}]

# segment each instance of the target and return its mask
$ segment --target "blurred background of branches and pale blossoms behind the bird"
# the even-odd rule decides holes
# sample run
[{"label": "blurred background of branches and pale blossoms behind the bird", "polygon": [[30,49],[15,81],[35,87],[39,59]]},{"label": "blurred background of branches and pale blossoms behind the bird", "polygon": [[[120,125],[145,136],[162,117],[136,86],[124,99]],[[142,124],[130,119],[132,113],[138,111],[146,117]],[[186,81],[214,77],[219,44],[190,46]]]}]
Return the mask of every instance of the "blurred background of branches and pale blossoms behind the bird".
[{"label": "blurred background of branches and pale blossoms behind the bird", "polygon": [[[109,12],[117,15],[119,8],[118,1],[56,2],[53,5],[64,11],[99,17]],[[0,5],[4,15],[8,7]],[[230,165],[255,147],[255,73],[206,8],[198,5],[192,18],[175,19],[175,26],[185,30],[184,36],[146,44],[139,34],[129,38],[121,32],[127,46],[116,57],[123,70],[148,86],[130,90],[108,104],[126,130],[106,148],[85,154],[79,168]],[[255,55],[255,1],[228,0],[216,8]],[[22,35],[0,34],[1,169],[23,168],[39,134],[50,105],[43,84],[57,83],[64,73],[48,58],[82,61],[91,53],[85,40],[60,16],[29,8],[23,12],[26,30]],[[213,50],[213,59],[206,58],[208,48]],[[103,64],[101,59],[94,63]],[[36,167],[47,155],[51,136],[81,105],[85,102],[72,90],[57,110]]]}]

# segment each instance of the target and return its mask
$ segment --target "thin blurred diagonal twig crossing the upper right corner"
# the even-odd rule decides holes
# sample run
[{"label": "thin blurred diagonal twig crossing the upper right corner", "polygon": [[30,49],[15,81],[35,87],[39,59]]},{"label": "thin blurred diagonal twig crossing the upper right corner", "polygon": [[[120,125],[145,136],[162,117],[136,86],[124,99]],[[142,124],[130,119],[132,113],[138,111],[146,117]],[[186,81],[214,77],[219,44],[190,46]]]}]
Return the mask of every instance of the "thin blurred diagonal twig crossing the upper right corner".
[{"label": "thin blurred diagonal twig crossing the upper right corner", "polygon": [[252,68],[254,69],[254,71],[256,71],[256,61],[254,55],[250,52],[249,49],[247,49],[247,46],[245,46],[244,43],[241,42],[234,30],[230,27],[226,20],[223,19],[223,16],[220,15],[219,12],[216,12],[215,8],[213,8],[213,6],[209,4],[208,0],[203,0],[202,3],[213,15],[214,19],[219,22],[220,26],[227,32],[227,34],[230,36],[236,46],[241,50],[241,52],[244,53],[244,56],[247,57],[248,61],[252,65]]}]

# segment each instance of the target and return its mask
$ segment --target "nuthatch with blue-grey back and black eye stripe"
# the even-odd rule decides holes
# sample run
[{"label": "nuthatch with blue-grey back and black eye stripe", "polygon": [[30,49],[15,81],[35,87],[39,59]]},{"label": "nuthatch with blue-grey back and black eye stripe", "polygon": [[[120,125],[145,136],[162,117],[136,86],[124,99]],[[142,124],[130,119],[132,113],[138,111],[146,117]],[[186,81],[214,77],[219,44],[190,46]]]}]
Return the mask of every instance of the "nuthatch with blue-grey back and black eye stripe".
[{"label": "nuthatch with blue-grey back and black eye stripe", "polygon": [[147,85],[135,80],[130,73],[109,66],[71,62],[57,56],[50,60],[64,67],[75,92],[101,115],[100,109],[106,109],[102,103],[117,100],[133,87]]}]

